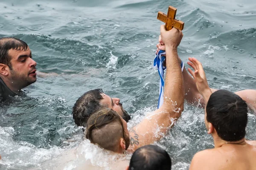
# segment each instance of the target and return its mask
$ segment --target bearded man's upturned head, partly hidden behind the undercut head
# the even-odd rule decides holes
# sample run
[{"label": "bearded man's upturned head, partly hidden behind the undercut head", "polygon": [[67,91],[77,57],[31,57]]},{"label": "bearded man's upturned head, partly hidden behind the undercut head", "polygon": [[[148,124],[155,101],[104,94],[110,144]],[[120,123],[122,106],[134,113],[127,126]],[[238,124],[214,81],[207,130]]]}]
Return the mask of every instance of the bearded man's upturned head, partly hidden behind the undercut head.
[{"label": "bearded man's upturned head, partly hidden behind the undercut head", "polygon": [[111,98],[104,94],[102,89],[94,89],[84,93],[73,106],[73,119],[78,126],[86,127],[87,120],[102,107],[107,107],[116,111],[124,120],[128,122],[131,116],[125,111],[120,103],[120,99]]}]

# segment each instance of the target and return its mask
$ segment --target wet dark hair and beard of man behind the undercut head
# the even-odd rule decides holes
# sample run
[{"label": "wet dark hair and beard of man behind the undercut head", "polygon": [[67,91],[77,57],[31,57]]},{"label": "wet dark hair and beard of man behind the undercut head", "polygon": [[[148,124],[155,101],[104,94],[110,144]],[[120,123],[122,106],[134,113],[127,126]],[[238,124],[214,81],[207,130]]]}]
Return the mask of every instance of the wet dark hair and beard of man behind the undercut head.
[{"label": "wet dark hair and beard of man behind the undercut head", "polygon": [[[98,88],[87,91],[79,97],[72,112],[76,125],[86,127],[89,117],[104,107],[100,105],[100,101],[103,99],[101,94],[103,93],[102,89]],[[130,115],[126,111],[123,113],[122,118],[128,122],[131,119]]]}]

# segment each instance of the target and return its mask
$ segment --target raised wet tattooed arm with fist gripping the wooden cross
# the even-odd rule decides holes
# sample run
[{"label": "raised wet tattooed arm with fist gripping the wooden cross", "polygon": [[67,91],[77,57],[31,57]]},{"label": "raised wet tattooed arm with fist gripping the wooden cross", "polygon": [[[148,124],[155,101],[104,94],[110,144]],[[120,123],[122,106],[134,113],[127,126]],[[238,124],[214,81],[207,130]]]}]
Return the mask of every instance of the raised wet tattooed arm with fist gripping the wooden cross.
[{"label": "raised wet tattooed arm with fist gripping the wooden cross", "polygon": [[161,26],[161,36],[166,44],[167,68],[163,105],[130,131],[130,151],[160,140],[183,111],[184,85],[177,54],[183,34],[176,28],[166,31]]}]

